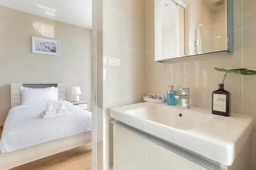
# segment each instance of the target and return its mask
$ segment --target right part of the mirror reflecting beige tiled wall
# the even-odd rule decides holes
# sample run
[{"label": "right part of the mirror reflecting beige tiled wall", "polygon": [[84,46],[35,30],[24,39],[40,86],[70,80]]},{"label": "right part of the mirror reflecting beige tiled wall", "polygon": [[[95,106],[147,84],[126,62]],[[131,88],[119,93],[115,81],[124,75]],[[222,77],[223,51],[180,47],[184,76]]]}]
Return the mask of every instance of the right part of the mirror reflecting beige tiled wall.
[{"label": "right part of the mirror reflecting beige tiled wall", "polygon": [[190,0],[185,8],[185,54],[227,50],[226,0]]}]

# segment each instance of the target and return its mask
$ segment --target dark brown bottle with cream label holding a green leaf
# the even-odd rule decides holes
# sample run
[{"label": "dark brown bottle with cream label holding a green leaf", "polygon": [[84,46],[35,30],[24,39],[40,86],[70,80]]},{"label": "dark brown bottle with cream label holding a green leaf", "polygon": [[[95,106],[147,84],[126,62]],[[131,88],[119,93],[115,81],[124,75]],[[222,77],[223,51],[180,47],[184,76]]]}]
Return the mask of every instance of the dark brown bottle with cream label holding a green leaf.
[{"label": "dark brown bottle with cream label holding a green leaf", "polygon": [[218,85],[218,90],[211,93],[211,113],[230,116],[230,93],[224,90],[224,84]]}]

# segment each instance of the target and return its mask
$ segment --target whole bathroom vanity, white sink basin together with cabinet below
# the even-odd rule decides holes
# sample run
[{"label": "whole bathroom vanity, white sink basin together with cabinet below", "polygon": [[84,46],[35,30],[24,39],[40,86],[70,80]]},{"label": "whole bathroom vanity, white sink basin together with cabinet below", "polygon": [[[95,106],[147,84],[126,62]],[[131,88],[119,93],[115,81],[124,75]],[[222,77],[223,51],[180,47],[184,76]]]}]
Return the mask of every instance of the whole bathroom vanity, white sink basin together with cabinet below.
[{"label": "whole bathroom vanity, white sink basin together with cabinet below", "polygon": [[250,170],[253,118],[142,102],[110,109],[114,170]]}]

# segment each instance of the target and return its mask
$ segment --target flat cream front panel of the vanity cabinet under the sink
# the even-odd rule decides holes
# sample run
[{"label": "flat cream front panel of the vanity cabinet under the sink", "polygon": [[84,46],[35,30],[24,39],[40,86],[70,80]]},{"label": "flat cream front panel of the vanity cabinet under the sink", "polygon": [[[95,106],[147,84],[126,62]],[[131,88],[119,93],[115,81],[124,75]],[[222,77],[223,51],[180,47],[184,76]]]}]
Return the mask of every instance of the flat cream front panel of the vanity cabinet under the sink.
[{"label": "flat cream front panel of the vanity cabinet under the sink", "polygon": [[113,124],[113,170],[207,170],[140,136]]}]

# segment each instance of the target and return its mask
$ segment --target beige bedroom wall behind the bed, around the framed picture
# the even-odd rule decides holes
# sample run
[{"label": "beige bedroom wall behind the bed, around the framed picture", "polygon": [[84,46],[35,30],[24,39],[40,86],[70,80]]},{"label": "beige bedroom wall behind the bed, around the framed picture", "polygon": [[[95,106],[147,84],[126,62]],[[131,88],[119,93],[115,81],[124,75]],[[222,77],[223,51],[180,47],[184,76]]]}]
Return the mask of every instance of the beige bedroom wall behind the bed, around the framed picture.
[{"label": "beige bedroom wall behind the bed, around the framed picture", "polygon": [[[32,36],[59,40],[60,55],[32,53]],[[80,86],[90,101],[91,30],[0,6],[0,125],[10,108],[10,83]]]}]

